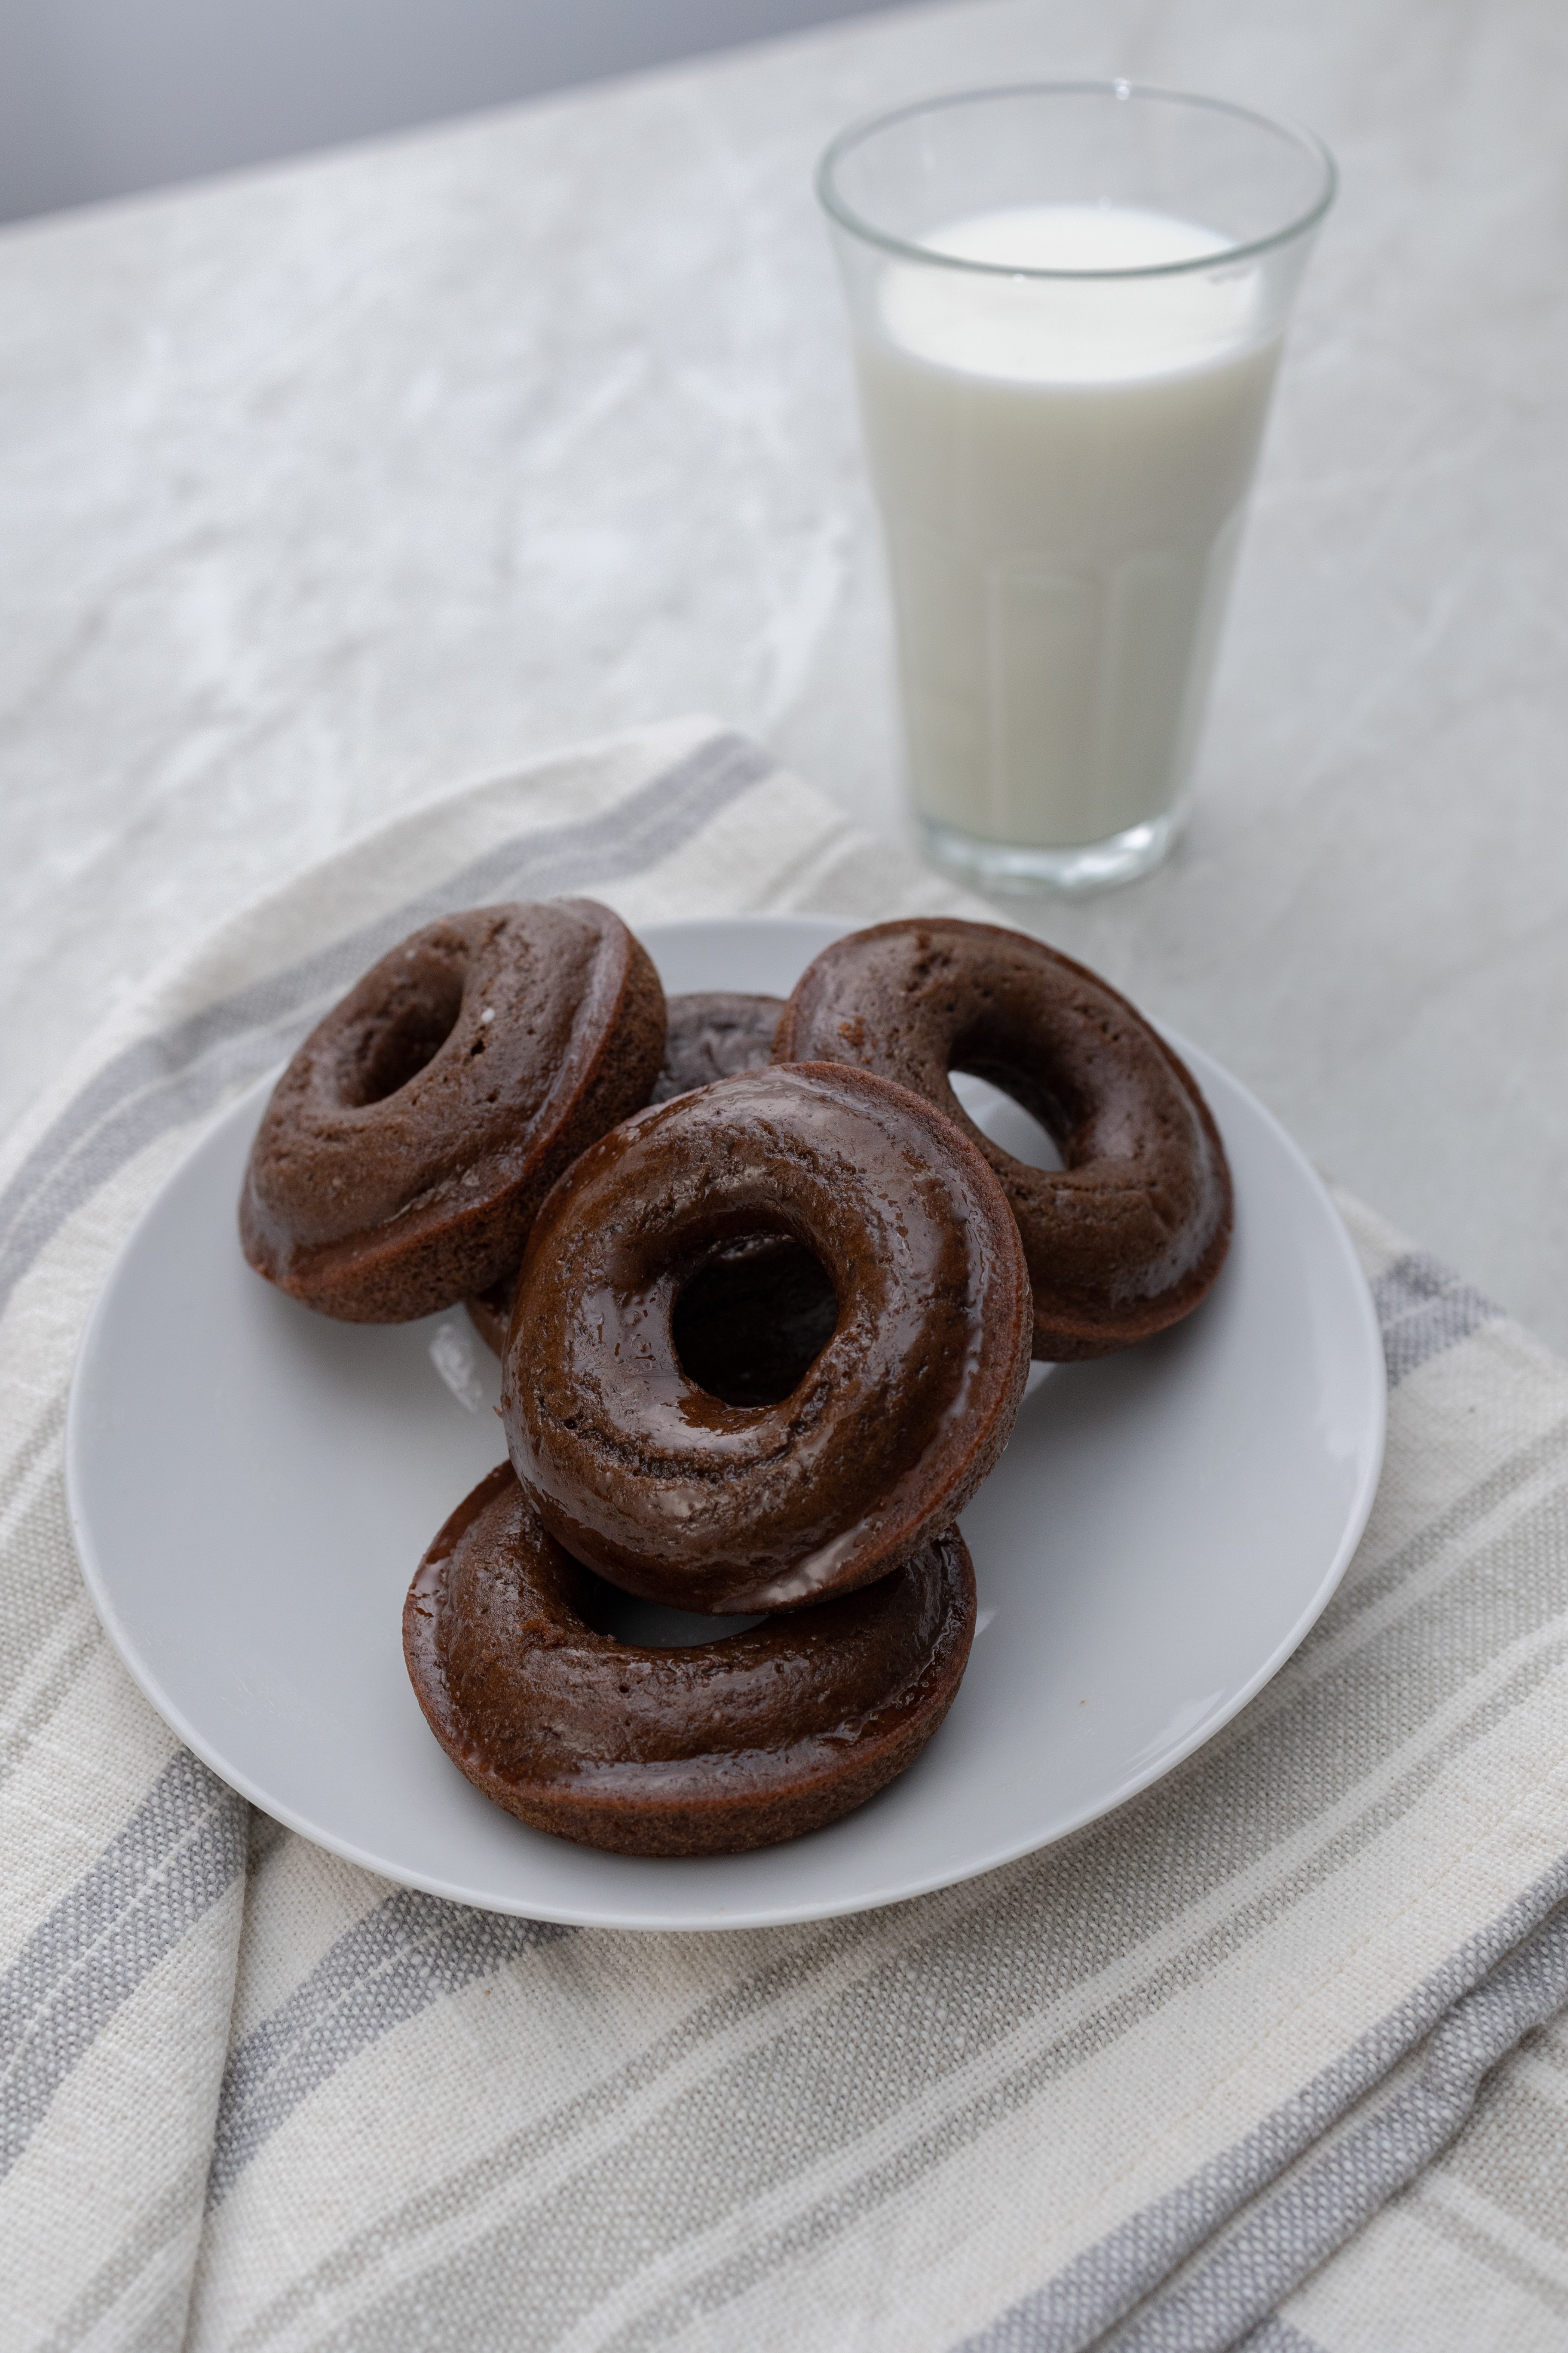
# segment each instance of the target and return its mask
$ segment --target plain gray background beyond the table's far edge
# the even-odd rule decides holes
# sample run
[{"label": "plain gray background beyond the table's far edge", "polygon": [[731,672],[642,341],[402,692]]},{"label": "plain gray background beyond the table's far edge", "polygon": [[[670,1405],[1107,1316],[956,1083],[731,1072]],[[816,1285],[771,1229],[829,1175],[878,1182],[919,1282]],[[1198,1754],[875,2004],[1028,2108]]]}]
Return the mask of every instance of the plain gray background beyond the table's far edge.
[{"label": "plain gray background beyond the table's far edge", "polygon": [[0,0],[0,221],[886,0]]}]

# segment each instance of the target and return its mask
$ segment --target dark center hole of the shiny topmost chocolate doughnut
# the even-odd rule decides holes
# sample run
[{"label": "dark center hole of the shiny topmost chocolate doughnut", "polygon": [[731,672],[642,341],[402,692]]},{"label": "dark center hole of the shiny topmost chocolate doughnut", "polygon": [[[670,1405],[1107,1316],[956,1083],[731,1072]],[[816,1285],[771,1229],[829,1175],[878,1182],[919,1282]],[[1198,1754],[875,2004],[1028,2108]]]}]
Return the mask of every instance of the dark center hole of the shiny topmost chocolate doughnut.
[{"label": "dark center hole of the shiny topmost chocolate doughnut", "polygon": [[724,1242],[686,1278],[670,1315],[689,1381],[722,1405],[783,1405],[839,1320],[832,1275],[792,1233]]}]

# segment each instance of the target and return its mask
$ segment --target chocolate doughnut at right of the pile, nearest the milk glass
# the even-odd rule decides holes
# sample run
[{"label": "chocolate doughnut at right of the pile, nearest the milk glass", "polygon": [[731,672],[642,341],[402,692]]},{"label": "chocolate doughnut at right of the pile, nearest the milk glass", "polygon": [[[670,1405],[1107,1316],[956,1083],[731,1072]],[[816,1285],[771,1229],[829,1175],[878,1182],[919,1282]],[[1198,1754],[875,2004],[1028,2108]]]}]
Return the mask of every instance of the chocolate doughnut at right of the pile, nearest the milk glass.
[{"label": "chocolate doughnut at right of the pile, nearest the milk glass", "polygon": [[[1126,998],[1039,939],[945,915],[856,932],[806,967],[773,1052],[879,1071],[980,1146],[1023,1233],[1037,1358],[1164,1332],[1220,1273],[1229,1167],[1197,1080]],[[950,1071],[1034,1113],[1065,1167],[983,1136]]]}]

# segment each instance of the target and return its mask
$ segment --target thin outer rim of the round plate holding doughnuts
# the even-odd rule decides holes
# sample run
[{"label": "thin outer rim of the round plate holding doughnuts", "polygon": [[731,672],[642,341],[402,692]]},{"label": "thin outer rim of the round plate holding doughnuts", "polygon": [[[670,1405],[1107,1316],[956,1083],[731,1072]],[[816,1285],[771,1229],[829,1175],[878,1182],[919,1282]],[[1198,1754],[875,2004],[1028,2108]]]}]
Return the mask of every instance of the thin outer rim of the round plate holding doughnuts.
[{"label": "thin outer rim of the round plate holding doughnuts", "polygon": [[[743,915],[686,915],[686,918],[675,915],[675,918],[665,918],[665,920],[651,920],[651,922],[644,922],[639,927],[637,936],[639,939],[654,936],[654,944],[658,946],[661,934],[670,934],[670,932],[719,932],[719,929],[726,929],[726,927],[773,929],[773,932],[809,929],[809,932],[816,934],[816,946],[811,948],[813,955],[820,953],[823,946],[827,946],[827,936],[842,939],[849,932],[867,929],[867,925],[844,922],[842,918],[827,915],[827,913],[776,913],[776,911],[757,911],[757,913],[743,913]],[[1114,984],[1107,984],[1107,986],[1114,986]],[[96,1553],[96,1544],[94,1544],[94,1537],[92,1537],[89,1513],[87,1513],[87,1508],[82,1504],[82,1478],[85,1478],[82,1452],[85,1452],[85,1445],[87,1445],[85,1433],[82,1433],[82,1417],[85,1417],[85,1405],[82,1405],[82,1395],[85,1395],[85,1367],[89,1365],[89,1358],[92,1358],[99,1329],[101,1329],[103,1320],[108,1318],[108,1301],[110,1301],[110,1294],[115,1289],[115,1280],[118,1280],[125,1261],[129,1261],[132,1254],[136,1252],[136,1245],[141,1242],[141,1235],[143,1235],[146,1226],[150,1226],[153,1217],[158,1214],[158,1209],[160,1209],[160,1205],[165,1200],[165,1193],[183,1176],[183,1172],[188,1169],[190,1160],[195,1160],[195,1155],[207,1148],[207,1144],[216,1136],[216,1132],[221,1127],[226,1127],[254,1096],[259,1096],[263,1089],[270,1089],[277,1082],[280,1071],[287,1066],[287,1056],[282,1056],[275,1066],[270,1066],[266,1073],[261,1073],[256,1080],[252,1080],[249,1087],[240,1089],[240,1094],[230,1096],[228,1104],[223,1104],[207,1120],[202,1120],[202,1125],[190,1136],[190,1141],[186,1144],[186,1148],[179,1155],[179,1160],[174,1162],[174,1167],[169,1167],[165,1172],[165,1176],[160,1179],[160,1184],[155,1186],[155,1191],[141,1205],[141,1209],[136,1212],[136,1219],[134,1219],[129,1233],[125,1235],[125,1240],[115,1249],[115,1257],[113,1257],[108,1271],[103,1273],[103,1280],[99,1285],[96,1299],[94,1299],[92,1311],[87,1315],[87,1322],[82,1327],[82,1337],[78,1341],[75,1360],[73,1360],[73,1367],[71,1367],[71,1386],[68,1386],[68,1398],[66,1398],[66,1433],[63,1433],[66,1518],[68,1518],[68,1525],[71,1525],[71,1539],[75,1544],[78,1565],[82,1569],[82,1581],[87,1586],[89,1600],[92,1600],[92,1605],[94,1605],[94,1609],[99,1614],[103,1633],[108,1635],[108,1640],[110,1640],[110,1645],[113,1645],[120,1664],[132,1675],[136,1689],[143,1694],[143,1699],[158,1713],[158,1718],[165,1722],[165,1727],[179,1741],[183,1741],[183,1746],[190,1748],[193,1755],[200,1758],[202,1765],[207,1765],[228,1788],[233,1788],[237,1795],[242,1795],[249,1805],[259,1807],[273,1821],[277,1821],[284,1828],[296,1831],[301,1838],[310,1840],[310,1845],[324,1847],[329,1854],[336,1854],[343,1861],[357,1864],[362,1871],[369,1871],[376,1878],[390,1880],[397,1887],[411,1887],[411,1889],[418,1889],[423,1894],[440,1897],[442,1901],[463,1904],[470,1911],[484,1911],[484,1913],[494,1913],[498,1918],[545,1920],[545,1922],[562,1925],[562,1927],[609,1927],[609,1929],[635,1929],[639,1934],[724,1934],[724,1932],[745,1932],[745,1929],[757,1929],[757,1927],[799,1927],[799,1925],[809,1925],[813,1920],[853,1918],[856,1913],[879,1911],[879,1908],[886,1908],[891,1904],[912,1904],[919,1897],[940,1892],[943,1887],[961,1887],[969,1880],[985,1878],[987,1873],[1001,1871],[1009,1864],[1023,1861],[1030,1854],[1044,1854],[1051,1847],[1058,1847],[1065,1838],[1072,1838],[1074,1833],[1084,1831],[1088,1824],[1103,1821],[1107,1814],[1114,1814],[1119,1807],[1124,1807],[1133,1798],[1143,1795],[1143,1791],[1152,1788],[1157,1781],[1164,1781],[1166,1774],[1175,1772],[1180,1765],[1185,1765],[1185,1760],[1190,1755],[1194,1755],[1199,1748],[1204,1748],[1211,1739],[1215,1739],[1225,1729],[1225,1725],[1229,1725],[1258,1697],[1258,1692],[1267,1682],[1272,1682],[1272,1678],[1284,1668],[1284,1664],[1302,1645],[1302,1640],[1307,1638],[1307,1633],[1312,1631],[1312,1626],[1321,1619],[1324,1609],[1333,1600],[1338,1586],[1345,1579],[1345,1572],[1347,1572],[1349,1562],[1354,1560],[1356,1546],[1361,1544],[1361,1537],[1366,1534],[1366,1525],[1371,1520],[1373,1504],[1378,1499],[1378,1485],[1380,1485],[1380,1478],[1382,1478],[1385,1447],[1387,1447],[1387,1379],[1382,1377],[1385,1355],[1382,1355],[1382,1332],[1380,1332],[1380,1325],[1378,1325],[1378,1311],[1375,1311],[1375,1304],[1373,1304],[1371,1282],[1368,1282],[1368,1278],[1366,1278],[1366,1273],[1361,1268],[1361,1261],[1356,1257],[1356,1245],[1354,1245],[1354,1240],[1349,1235],[1349,1228],[1347,1228],[1345,1219],[1340,1217],[1340,1212],[1338,1212],[1338,1207],[1333,1202],[1333,1195],[1328,1193],[1328,1186],[1324,1184],[1324,1179],[1314,1169],[1314,1165],[1307,1160],[1307,1155],[1300,1148],[1300,1144],[1284,1127],[1284,1122],[1269,1111],[1267,1104],[1262,1104],[1253,1094],[1253,1089],[1244,1080],[1239,1080],[1225,1064],[1220,1064],[1204,1047],[1199,1047],[1190,1038],[1185,1038],[1182,1031],[1173,1028],[1166,1021],[1154,1021],[1154,1016],[1150,1016],[1150,1014],[1145,1014],[1143,1019],[1150,1021],[1150,1026],[1182,1056],[1182,1061],[1190,1061],[1190,1064],[1197,1061],[1204,1068],[1218,1071],[1227,1080],[1227,1085],[1232,1085],[1246,1099],[1251,1115],[1255,1115],[1260,1120],[1260,1125],[1269,1132],[1274,1146],[1293,1165],[1295,1174],[1300,1179],[1305,1179],[1307,1191],[1314,1195],[1319,1209],[1326,1214],[1328,1228],[1333,1233],[1335,1252],[1338,1252],[1338,1257],[1342,1261],[1342,1268],[1345,1268],[1345,1273],[1349,1278],[1347,1294],[1352,1294],[1354,1301],[1356,1301],[1356,1315],[1361,1320],[1361,1339],[1363,1339],[1366,1351],[1368,1351],[1368,1369],[1373,1369],[1378,1374],[1373,1379],[1373,1384],[1371,1384],[1371,1395],[1373,1395],[1373,1431],[1371,1431],[1371,1445],[1366,1447],[1366,1454],[1363,1454],[1363,1468],[1361,1468],[1361,1475],[1359,1475],[1359,1485],[1356,1485],[1354,1499],[1349,1504],[1347,1520],[1345,1520],[1340,1541],[1335,1546],[1335,1553],[1333,1553],[1333,1558],[1331,1558],[1324,1577],[1314,1586],[1312,1598],[1298,1612],[1298,1617],[1293,1619],[1293,1624],[1286,1631],[1286,1635],[1262,1659],[1262,1664],[1255,1668],[1255,1673],[1246,1678],[1246,1682],[1239,1687],[1239,1692],[1232,1694],[1232,1697],[1227,1697],[1227,1701],[1213,1715],[1201,1718],[1197,1722],[1197,1727],[1192,1727],[1190,1732],[1180,1734],[1178,1741],[1168,1751],[1161,1751],[1154,1758],[1154,1762],[1145,1765],[1143,1769],[1138,1769],[1135,1774],[1131,1774],[1126,1781],[1117,1784],[1117,1788],[1110,1795],[1103,1795],[1100,1800],[1084,1805],[1077,1814],[1072,1814],[1070,1819],[1060,1821],[1048,1833],[1048,1838],[1023,1838],[1023,1840],[1016,1840],[1016,1842],[1006,1845],[1004,1849],[999,1849],[994,1854],[985,1854],[985,1857],[976,1859],[973,1864],[966,1864],[961,1871],[952,1871],[950,1866],[940,1866],[940,1868],[936,1868],[933,1873],[929,1873],[924,1878],[903,1880],[898,1887],[872,1887],[872,1889],[865,1889],[865,1892],[860,1892],[856,1897],[842,1897],[842,1899],[830,1899],[830,1901],[811,1901],[811,1899],[792,1901],[792,1904],[755,1904],[755,1901],[750,1901],[750,1904],[729,1906],[729,1908],[724,1904],[712,1904],[712,1906],[708,1906],[708,1911],[703,1915],[691,1915],[691,1913],[684,1913],[684,1911],[682,1913],[675,1913],[675,1911],[663,1911],[661,1913],[656,1906],[649,1906],[649,1904],[630,1906],[630,1908],[628,1906],[592,1904],[592,1901],[583,1901],[583,1904],[529,1901],[529,1904],[522,1904],[522,1901],[515,1901],[510,1897],[498,1897],[494,1892],[482,1892],[482,1889],[465,1887],[465,1885],[461,1885],[456,1880],[447,1880],[447,1878],[442,1878],[437,1873],[416,1871],[416,1868],[409,1868],[409,1866],[393,1864],[383,1854],[371,1854],[369,1849],[360,1847],[353,1838],[346,1838],[346,1835],[331,1831],[329,1826],[324,1826],[320,1821],[313,1821],[310,1817],[306,1817],[301,1812],[301,1807],[296,1807],[296,1805],[280,1805],[273,1795],[268,1795],[259,1786],[259,1781],[254,1779],[254,1774],[235,1769],[223,1758],[219,1744],[212,1741],[207,1734],[202,1734],[197,1729],[197,1725],[190,1722],[190,1718],[186,1715],[186,1711],[160,1685],[153,1664],[143,1657],[141,1647],[136,1645],[136,1640],[129,1633],[129,1626],[125,1624],[125,1617],[120,1614],[120,1607],[115,1605],[113,1581],[106,1579],[106,1574],[103,1574],[103,1567],[101,1567],[101,1560],[99,1560],[99,1553]],[[604,1861],[614,1864],[616,1857],[604,1857]],[[724,1857],[712,1857],[712,1861],[722,1864]]]}]

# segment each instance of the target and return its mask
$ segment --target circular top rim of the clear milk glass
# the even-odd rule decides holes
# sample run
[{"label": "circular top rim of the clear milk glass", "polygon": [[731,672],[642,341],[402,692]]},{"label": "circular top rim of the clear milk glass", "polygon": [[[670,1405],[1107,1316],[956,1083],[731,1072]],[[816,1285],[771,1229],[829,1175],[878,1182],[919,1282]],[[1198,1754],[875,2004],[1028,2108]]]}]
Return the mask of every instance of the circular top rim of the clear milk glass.
[{"label": "circular top rim of the clear milk glass", "polygon": [[[1192,254],[1187,261],[1138,261],[1119,268],[1046,271],[1016,261],[969,261],[961,254],[940,254],[931,245],[914,245],[910,238],[896,238],[891,231],[877,228],[858,214],[835,184],[835,172],[846,155],[851,155],[858,146],[865,146],[865,141],[877,132],[893,129],[896,122],[910,122],[914,115],[936,115],[950,106],[983,106],[997,99],[1088,96],[1117,99],[1121,104],[1128,99],[1152,99],[1161,106],[1194,106],[1213,115],[1232,115],[1239,122],[1253,122],[1258,129],[1276,136],[1284,134],[1319,165],[1319,193],[1305,212],[1293,214],[1293,219],[1288,219],[1281,228],[1272,228],[1267,238],[1241,238],[1234,245],[1220,247],[1215,254]],[[849,122],[837,139],[830,139],[823,148],[823,158],[816,167],[816,198],[823,212],[853,238],[860,238],[865,245],[877,245],[886,254],[898,254],[907,261],[924,261],[929,268],[971,271],[983,278],[1182,278],[1192,271],[1229,268],[1234,261],[1251,261],[1255,254],[1267,254],[1279,245],[1291,245],[1293,238],[1305,238],[1333,205],[1338,186],[1340,172],[1328,146],[1316,136],[1316,132],[1309,132],[1305,122],[1291,122],[1284,115],[1260,115],[1258,108],[1237,106],[1232,99],[1208,99],[1194,89],[1161,89],[1154,82],[1128,82],[1119,75],[1103,82],[994,82],[983,89],[952,89],[936,99],[914,99],[910,106],[893,106],[886,113],[860,115],[856,122]]]}]

